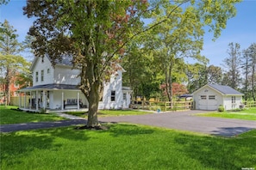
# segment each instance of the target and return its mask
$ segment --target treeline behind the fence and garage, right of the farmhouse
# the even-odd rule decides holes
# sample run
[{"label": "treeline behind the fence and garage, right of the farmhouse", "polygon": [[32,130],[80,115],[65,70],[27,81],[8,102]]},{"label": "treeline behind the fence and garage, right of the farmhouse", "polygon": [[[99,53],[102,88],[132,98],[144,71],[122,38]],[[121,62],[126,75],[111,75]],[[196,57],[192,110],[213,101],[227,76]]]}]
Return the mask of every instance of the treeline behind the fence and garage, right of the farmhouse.
[{"label": "treeline behind the fence and garage, right of the farmhouse", "polygon": [[[124,74],[123,82],[134,89],[134,96],[149,98],[162,98],[168,100],[166,94],[166,68],[168,61],[157,61],[153,51],[145,51],[146,46],[138,48],[128,55],[122,65],[127,73]],[[186,89],[181,91],[192,93],[204,85],[221,84],[239,90],[244,95],[244,100],[255,101],[256,91],[256,43],[252,43],[247,49],[240,49],[240,44],[229,43],[228,55],[222,60],[222,66],[208,65],[207,58],[201,58],[196,64],[186,64],[184,58],[174,56],[169,64],[172,65],[172,88],[173,82],[184,84]],[[219,58],[221,58],[219,56]],[[162,62],[162,63],[161,63]],[[170,71],[170,70],[169,70]],[[172,89],[172,97],[178,95],[178,91]]]}]

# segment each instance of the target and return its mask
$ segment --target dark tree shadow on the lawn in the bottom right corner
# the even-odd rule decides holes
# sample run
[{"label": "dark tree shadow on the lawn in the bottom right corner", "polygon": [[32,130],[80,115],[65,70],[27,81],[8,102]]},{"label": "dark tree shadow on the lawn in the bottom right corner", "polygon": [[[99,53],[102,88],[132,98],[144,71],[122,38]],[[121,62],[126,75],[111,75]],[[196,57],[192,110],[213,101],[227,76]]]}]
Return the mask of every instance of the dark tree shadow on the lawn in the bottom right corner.
[{"label": "dark tree shadow on the lawn in the bottom right corner", "polygon": [[197,137],[180,135],[175,141],[180,152],[195,159],[204,167],[214,169],[241,169],[256,166],[255,137]]}]

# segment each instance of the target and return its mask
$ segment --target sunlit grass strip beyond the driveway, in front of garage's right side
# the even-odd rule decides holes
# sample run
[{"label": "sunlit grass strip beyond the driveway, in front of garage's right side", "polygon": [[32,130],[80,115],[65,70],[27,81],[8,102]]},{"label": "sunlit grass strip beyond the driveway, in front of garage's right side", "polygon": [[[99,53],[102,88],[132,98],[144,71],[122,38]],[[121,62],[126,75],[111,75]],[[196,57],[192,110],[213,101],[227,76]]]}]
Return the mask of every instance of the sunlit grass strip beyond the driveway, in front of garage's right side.
[{"label": "sunlit grass strip beyond the driveway, in front of garage's right side", "polygon": [[197,115],[215,118],[238,118],[244,120],[256,120],[256,107],[235,112],[209,112]]}]

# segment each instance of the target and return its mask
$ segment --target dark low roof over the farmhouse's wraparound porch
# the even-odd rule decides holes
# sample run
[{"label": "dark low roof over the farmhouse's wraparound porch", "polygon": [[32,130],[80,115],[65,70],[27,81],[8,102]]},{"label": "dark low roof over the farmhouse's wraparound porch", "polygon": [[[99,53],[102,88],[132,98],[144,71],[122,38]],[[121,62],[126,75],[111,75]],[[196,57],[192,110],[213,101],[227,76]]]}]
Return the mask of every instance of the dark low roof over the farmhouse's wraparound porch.
[{"label": "dark low roof over the farmhouse's wraparound porch", "polygon": [[76,90],[79,91],[79,88],[77,85],[71,85],[71,84],[43,84],[43,85],[37,85],[33,87],[28,87],[28,88],[22,88],[18,91],[24,92],[24,91],[34,91],[34,90]]}]

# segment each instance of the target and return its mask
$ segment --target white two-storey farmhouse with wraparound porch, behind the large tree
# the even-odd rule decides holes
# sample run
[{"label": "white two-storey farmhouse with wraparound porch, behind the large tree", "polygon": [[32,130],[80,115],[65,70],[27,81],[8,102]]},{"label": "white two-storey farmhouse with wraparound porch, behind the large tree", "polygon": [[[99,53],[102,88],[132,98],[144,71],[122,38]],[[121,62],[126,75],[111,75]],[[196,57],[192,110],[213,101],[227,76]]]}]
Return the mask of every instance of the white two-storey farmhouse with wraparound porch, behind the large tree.
[{"label": "white two-storey farmhouse with wraparound porch, behind the large tree", "polygon": [[[77,110],[88,107],[88,100],[77,88],[80,70],[72,69],[71,58],[63,58],[54,67],[47,57],[34,58],[30,70],[34,86],[19,90],[19,96],[26,98],[20,98],[20,109],[39,112],[41,109]],[[113,74],[110,81],[104,83],[99,109],[128,108],[132,90],[122,87],[123,71],[117,70],[117,74]]]}]

